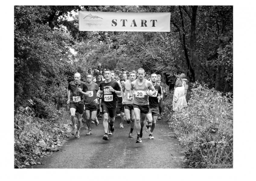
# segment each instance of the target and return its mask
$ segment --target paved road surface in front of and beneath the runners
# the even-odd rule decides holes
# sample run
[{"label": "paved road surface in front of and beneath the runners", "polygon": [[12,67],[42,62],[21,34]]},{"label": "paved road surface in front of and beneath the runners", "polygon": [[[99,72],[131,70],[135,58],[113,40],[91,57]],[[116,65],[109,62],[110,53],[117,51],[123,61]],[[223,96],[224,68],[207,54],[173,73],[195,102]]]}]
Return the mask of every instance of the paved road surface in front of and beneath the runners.
[{"label": "paved road surface in front of and beneath the runners", "polygon": [[143,130],[141,143],[135,143],[128,137],[130,124],[124,122],[124,128],[119,128],[120,118],[114,126],[115,132],[109,135],[109,140],[102,139],[104,135],[102,118],[99,126],[92,124],[92,135],[86,135],[88,130],[80,130],[80,138],[69,138],[60,147],[60,151],[40,158],[32,168],[182,168],[184,154],[181,146],[165,121],[157,122],[153,132],[155,139],[150,140],[149,134]]}]

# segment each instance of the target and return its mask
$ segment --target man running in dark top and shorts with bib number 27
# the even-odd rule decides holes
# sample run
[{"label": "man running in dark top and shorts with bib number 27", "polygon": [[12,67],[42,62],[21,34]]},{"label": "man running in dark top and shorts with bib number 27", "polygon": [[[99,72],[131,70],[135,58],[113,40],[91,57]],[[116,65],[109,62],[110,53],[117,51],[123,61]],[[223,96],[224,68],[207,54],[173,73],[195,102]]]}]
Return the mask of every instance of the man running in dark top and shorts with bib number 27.
[{"label": "man running in dark top and shorts with bib number 27", "polygon": [[[79,129],[82,126],[82,116],[84,112],[84,100],[83,96],[89,97],[88,88],[86,84],[82,81],[81,75],[77,72],[74,75],[74,81],[69,83],[67,88],[68,100],[67,104],[69,104],[71,121],[73,124],[73,128],[71,131],[72,135],[75,135],[75,138],[79,138]],[[70,90],[71,90],[71,100],[70,100]],[[77,112],[77,129],[75,130],[75,112]],[[76,132],[75,132],[76,131]]]}]

